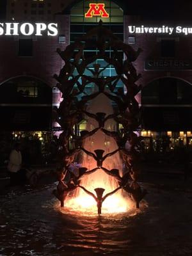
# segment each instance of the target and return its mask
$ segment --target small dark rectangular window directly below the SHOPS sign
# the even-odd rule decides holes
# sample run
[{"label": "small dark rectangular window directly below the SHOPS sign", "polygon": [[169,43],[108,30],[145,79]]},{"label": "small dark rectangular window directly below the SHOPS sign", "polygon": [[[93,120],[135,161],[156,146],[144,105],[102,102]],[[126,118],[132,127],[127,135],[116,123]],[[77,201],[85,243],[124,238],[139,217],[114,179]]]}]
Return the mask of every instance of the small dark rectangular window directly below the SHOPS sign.
[{"label": "small dark rectangular window directly below the SHOPS sign", "polygon": [[19,51],[20,57],[33,56],[33,40],[32,39],[19,39]]}]

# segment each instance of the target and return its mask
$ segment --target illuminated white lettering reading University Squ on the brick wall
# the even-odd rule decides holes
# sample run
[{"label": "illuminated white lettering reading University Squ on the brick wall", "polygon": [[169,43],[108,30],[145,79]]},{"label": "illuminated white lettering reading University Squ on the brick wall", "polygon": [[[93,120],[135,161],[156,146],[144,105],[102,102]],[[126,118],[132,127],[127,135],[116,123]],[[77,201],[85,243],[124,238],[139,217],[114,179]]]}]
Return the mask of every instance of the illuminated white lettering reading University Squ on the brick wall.
[{"label": "illuminated white lettering reading University Squ on the brick wall", "polygon": [[182,34],[182,35],[190,35],[192,34],[192,27],[169,27],[169,26],[161,26],[161,27],[147,27],[147,26],[128,26],[128,31],[130,34]]}]

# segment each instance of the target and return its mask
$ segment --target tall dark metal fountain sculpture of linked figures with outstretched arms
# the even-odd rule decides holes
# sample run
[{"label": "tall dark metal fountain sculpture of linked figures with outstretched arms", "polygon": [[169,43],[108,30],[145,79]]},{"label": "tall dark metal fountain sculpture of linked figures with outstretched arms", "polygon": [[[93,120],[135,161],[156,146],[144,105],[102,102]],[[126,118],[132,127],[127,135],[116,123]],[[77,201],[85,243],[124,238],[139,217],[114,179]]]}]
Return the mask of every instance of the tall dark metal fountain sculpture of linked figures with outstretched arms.
[{"label": "tall dark metal fountain sculpture of linked figures with outstretched arms", "polygon": [[[90,45],[97,49],[97,54],[93,56],[84,56],[84,49]],[[106,53],[107,49],[111,49],[113,54],[109,56]],[[73,44],[66,47],[65,51],[57,49],[63,61],[64,67],[60,71],[60,75],[54,75],[58,81],[57,87],[63,94],[63,101],[58,109],[54,109],[56,122],[61,125],[63,132],[60,134],[60,148],[58,150],[58,180],[57,189],[53,191],[54,195],[60,200],[61,207],[64,206],[64,201],[70,191],[75,191],[77,188],[83,189],[88,195],[92,196],[97,202],[98,214],[101,214],[102,202],[108,196],[113,195],[119,189],[123,189],[126,193],[132,196],[136,202],[136,207],[139,208],[141,199],[147,191],[141,189],[138,184],[138,175],[140,168],[138,161],[140,160],[140,152],[138,152],[138,136],[133,131],[138,129],[140,125],[140,108],[136,94],[141,90],[141,86],[136,84],[140,78],[137,74],[132,61],[135,61],[140,54],[141,49],[134,51],[132,47],[119,40],[109,29],[99,22],[99,26],[91,29],[86,35],[76,40]],[[123,60],[123,54],[125,60]],[[102,59],[106,63],[105,67],[101,67],[97,60]],[[93,64],[93,69],[89,67]],[[103,75],[108,67],[114,67],[116,76],[106,77]],[[90,76],[85,74],[90,72]],[[122,88],[117,89],[117,84],[123,84],[126,91]],[[95,92],[88,94],[86,86],[93,84],[96,88]],[[108,100],[115,104],[113,113],[107,115],[104,112],[90,113],[87,111],[88,102],[104,95]],[[102,102],[98,102],[102,104]],[[90,131],[84,130],[79,134],[75,134],[74,125],[79,124],[84,118],[92,118],[95,120],[97,127]],[[109,119],[114,119],[116,124],[122,124],[122,131],[108,131],[105,124]],[[105,136],[113,138],[118,148],[113,148],[111,152],[105,153],[105,150],[97,148],[93,152],[84,148],[84,140],[93,136],[97,132],[102,132]],[[68,148],[68,142],[72,138],[74,148]],[[126,148],[126,143],[129,143],[129,148]],[[125,170],[120,175],[120,170],[112,168],[108,170],[103,166],[108,157],[120,154],[124,162]],[[105,154],[104,154],[105,153]],[[82,162],[82,154],[87,154],[93,159],[95,168],[88,170],[86,166],[77,168],[77,173],[70,171],[70,166],[77,159]],[[95,160],[95,161],[94,161]],[[81,181],[85,175],[102,172],[113,178],[118,185],[117,188],[111,189],[109,193],[102,196],[105,188],[94,188],[95,193],[92,193],[85,188]],[[70,174],[69,180],[66,182],[65,175]]]}]

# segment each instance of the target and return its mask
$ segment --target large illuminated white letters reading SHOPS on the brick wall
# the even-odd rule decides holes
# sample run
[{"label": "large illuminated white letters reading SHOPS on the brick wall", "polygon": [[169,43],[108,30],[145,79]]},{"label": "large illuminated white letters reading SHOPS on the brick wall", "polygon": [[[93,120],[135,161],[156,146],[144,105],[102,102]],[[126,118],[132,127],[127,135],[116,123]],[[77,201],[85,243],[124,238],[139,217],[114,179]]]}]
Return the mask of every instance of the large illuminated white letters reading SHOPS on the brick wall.
[{"label": "large illuminated white letters reading SHOPS on the brick wall", "polygon": [[58,35],[57,23],[0,23],[0,36],[56,36]]}]

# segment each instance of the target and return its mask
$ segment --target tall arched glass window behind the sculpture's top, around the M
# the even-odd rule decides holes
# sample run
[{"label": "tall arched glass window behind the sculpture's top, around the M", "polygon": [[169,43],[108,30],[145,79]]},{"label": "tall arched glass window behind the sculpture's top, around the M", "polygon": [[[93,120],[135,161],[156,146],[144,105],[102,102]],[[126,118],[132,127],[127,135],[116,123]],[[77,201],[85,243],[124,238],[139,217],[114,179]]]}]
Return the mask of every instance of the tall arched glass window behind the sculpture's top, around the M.
[{"label": "tall arched glass window behind the sculpture's top, around the M", "polygon": [[[92,1],[93,3],[98,3],[98,1]],[[113,1],[103,1],[102,3],[106,4],[106,10],[109,13],[109,18],[102,18],[102,17],[92,17],[92,18],[85,18],[84,13],[88,12],[89,10],[89,4],[92,3],[88,0],[83,0],[79,3],[77,3],[74,7],[71,8],[70,11],[70,43],[77,40],[77,38],[81,37],[86,33],[87,31],[90,31],[90,29],[94,28],[94,26],[98,26],[98,22],[101,19],[103,21],[103,26],[105,28],[111,29],[113,31],[114,35],[118,38],[124,40],[124,13],[122,9],[113,3]],[[94,40],[96,40],[93,38]],[[60,40],[60,38],[59,38]],[[59,41],[60,42],[60,41]],[[88,45],[86,49],[84,49],[84,58],[92,57],[93,55],[97,54],[98,49],[97,47],[92,45]],[[106,51],[106,56],[111,57],[113,56],[113,49],[111,47],[108,47]],[[123,52],[122,52],[122,58],[124,58]],[[108,65],[106,61],[102,59],[102,57],[95,60],[93,63],[90,63],[89,68],[93,70],[93,65],[99,64],[101,65],[100,68],[104,68]],[[74,70],[74,76],[77,74],[77,71]],[[91,72],[89,70],[85,71],[85,75],[91,76]],[[113,65],[109,65],[104,72],[101,74],[102,76],[116,76],[116,71]],[[117,84],[117,88],[122,88],[123,84],[122,81],[119,81]],[[89,84],[86,88],[86,92],[89,94],[88,90],[89,88],[93,88],[93,84]]]}]

